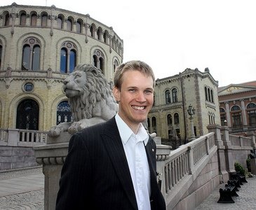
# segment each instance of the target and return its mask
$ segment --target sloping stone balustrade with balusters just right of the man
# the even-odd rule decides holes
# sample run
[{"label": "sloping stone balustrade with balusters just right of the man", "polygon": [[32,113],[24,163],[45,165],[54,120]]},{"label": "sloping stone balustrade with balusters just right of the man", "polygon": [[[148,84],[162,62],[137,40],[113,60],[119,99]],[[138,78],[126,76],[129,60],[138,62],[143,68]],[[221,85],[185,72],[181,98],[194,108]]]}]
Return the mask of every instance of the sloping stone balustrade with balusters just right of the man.
[{"label": "sloping stone balustrade with balusters just right of the man", "polygon": [[[161,153],[161,149],[161,145],[158,145],[158,153]],[[189,188],[216,151],[214,133],[209,133],[173,151],[170,150],[165,158],[156,153],[158,179],[161,180],[161,191],[169,205],[168,208],[175,207],[182,198],[184,189]]]}]

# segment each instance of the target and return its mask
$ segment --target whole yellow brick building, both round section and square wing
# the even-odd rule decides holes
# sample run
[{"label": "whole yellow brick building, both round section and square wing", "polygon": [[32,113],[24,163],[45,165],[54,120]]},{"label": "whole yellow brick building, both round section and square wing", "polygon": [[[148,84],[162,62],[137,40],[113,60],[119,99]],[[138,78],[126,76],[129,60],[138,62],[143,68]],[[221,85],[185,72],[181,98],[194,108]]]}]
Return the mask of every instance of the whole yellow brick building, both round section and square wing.
[{"label": "whole yellow brick building, both round section and square wing", "polygon": [[[72,120],[62,82],[77,64],[93,64],[109,82],[123,62],[112,27],[55,6],[0,7],[0,129],[39,130]],[[209,69],[156,80],[149,132],[184,144],[220,125],[218,82]]]}]

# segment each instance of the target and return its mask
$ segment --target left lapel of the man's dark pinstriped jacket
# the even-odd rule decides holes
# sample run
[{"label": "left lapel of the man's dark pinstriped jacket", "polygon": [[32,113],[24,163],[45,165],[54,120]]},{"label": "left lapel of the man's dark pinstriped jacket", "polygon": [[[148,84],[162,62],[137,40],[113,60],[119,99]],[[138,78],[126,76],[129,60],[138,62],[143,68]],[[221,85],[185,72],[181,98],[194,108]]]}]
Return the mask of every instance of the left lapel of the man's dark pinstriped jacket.
[{"label": "left lapel of the man's dark pinstriped jacket", "polygon": [[109,158],[112,160],[112,164],[123,186],[123,189],[126,191],[126,195],[128,196],[134,209],[137,209],[133,181],[130,176],[130,170],[126,160],[126,153],[123,149],[116,120],[112,118],[112,120],[109,120],[106,125],[106,130],[103,131],[102,134],[104,136],[103,144],[105,145],[105,148],[109,154]]}]

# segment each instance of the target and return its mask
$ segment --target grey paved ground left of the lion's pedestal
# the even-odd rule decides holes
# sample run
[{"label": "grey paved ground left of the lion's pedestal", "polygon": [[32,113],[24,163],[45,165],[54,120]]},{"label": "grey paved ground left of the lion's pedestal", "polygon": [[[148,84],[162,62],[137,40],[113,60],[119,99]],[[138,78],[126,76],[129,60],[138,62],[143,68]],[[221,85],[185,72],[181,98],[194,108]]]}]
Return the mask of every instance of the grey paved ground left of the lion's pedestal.
[{"label": "grey paved ground left of the lion's pedestal", "polygon": [[0,210],[43,210],[42,168],[0,172]]}]

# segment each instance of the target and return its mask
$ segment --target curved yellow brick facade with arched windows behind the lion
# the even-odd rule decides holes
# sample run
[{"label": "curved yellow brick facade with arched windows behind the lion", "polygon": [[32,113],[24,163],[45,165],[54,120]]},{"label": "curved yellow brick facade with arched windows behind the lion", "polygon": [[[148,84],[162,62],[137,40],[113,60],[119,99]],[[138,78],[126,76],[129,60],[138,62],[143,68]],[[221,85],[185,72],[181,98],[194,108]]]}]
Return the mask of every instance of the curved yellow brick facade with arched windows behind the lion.
[{"label": "curved yellow brick facade with arched windows behind the lion", "polygon": [[0,7],[0,127],[47,131],[70,120],[62,81],[77,64],[110,82],[123,61],[112,27],[55,6]]}]

